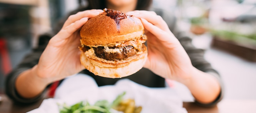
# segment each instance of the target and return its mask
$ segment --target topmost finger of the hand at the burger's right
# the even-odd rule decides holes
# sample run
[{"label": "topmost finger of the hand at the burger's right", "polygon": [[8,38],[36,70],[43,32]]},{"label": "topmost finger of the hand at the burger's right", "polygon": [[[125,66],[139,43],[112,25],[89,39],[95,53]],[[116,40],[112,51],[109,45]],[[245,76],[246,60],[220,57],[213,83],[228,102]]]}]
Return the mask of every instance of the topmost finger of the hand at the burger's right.
[{"label": "topmost finger of the hand at the burger's right", "polygon": [[164,31],[170,31],[168,25],[163,20],[163,18],[159,15],[156,15],[155,12],[153,13],[149,11],[134,11],[133,13],[131,13],[131,15],[137,18],[144,18],[148,22],[152,23],[153,25],[156,25]]}]

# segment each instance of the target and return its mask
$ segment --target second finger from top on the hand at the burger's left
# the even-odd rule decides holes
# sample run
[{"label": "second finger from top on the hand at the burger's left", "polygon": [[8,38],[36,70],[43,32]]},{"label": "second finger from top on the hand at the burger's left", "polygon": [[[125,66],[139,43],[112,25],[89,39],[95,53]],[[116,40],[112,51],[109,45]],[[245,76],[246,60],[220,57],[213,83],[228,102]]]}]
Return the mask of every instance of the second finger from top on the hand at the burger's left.
[{"label": "second finger from top on the hand at the burger's left", "polygon": [[66,38],[70,37],[75,31],[80,29],[85,24],[85,22],[87,22],[87,20],[88,20],[88,17],[85,17],[78,21],[75,21],[74,23],[70,24],[69,26],[63,28],[58,33],[58,36],[60,37],[60,39],[66,39]]}]

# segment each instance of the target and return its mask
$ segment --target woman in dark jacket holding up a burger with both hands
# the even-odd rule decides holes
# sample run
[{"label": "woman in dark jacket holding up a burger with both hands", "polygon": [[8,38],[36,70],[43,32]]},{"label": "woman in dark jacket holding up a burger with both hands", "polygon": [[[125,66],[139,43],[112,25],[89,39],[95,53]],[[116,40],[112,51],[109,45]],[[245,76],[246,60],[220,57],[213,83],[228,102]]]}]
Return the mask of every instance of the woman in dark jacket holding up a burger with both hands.
[{"label": "woman in dark jacket holding up a burger with both hands", "polygon": [[219,74],[203,58],[203,51],[178,32],[173,14],[150,8],[151,2],[88,0],[88,7],[72,12],[54,35],[40,36],[39,46],[8,75],[6,93],[15,101],[32,103],[42,98],[51,83],[78,72],[92,76],[99,86],[122,79],[93,75],[81,64],[77,49],[82,25],[109,8],[139,18],[148,38],[145,68],[124,78],[149,87],[165,87],[165,79],[176,80],[189,88],[200,105],[215,105],[223,95]]}]

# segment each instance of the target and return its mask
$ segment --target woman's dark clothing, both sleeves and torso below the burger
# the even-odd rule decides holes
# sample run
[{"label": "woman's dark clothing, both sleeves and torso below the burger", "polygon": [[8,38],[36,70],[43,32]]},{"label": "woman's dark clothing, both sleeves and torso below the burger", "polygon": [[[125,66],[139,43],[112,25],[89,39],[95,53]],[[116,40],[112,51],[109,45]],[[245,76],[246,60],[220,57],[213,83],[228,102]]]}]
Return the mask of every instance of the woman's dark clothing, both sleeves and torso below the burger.
[{"label": "woman's dark clothing, both sleeves and torso below the burger", "polygon": [[[72,14],[75,14],[76,12],[83,11],[83,10],[85,10],[85,9],[80,9],[80,10],[74,11]],[[180,43],[182,44],[182,46],[188,53],[188,55],[192,61],[192,65],[201,71],[211,73],[221,83],[220,76],[217,73],[217,71],[215,71],[211,67],[210,63],[204,59],[204,57],[203,57],[204,50],[195,48],[192,45],[191,38],[184,36],[184,34],[181,32],[178,32],[178,30],[176,29],[177,28],[176,27],[176,19],[175,19],[175,17],[172,16],[174,14],[164,12],[163,10],[160,10],[160,9],[152,9],[152,10],[155,11],[158,15],[162,16],[163,19],[167,22],[170,30],[178,38],[178,40],[180,41]],[[56,34],[61,29],[63,22],[62,22],[62,24],[60,24],[57,27],[57,29],[55,29],[55,33],[53,33],[53,34]],[[42,95],[39,95],[38,97],[35,97],[33,99],[24,99],[24,98],[20,97],[19,94],[16,92],[14,84],[15,84],[15,80],[16,80],[17,76],[21,72],[32,68],[34,65],[36,65],[38,63],[42,52],[44,51],[45,47],[47,46],[49,40],[52,37],[53,37],[53,35],[51,35],[51,34],[41,35],[39,37],[38,47],[33,49],[30,54],[25,56],[24,59],[22,60],[22,62],[7,76],[6,94],[10,98],[12,98],[14,101],[22,102],[22,103],[32,103],[32,102],[38,101],[40,98],[42,98],[41,97]],[[115,78],[115,79],[95,76],[93,73],[90,73],[88,70],[83,70],[83,71],[81,71],[81,73],[85,73],[85,74],[92,76],[99,86],[114,84],[119,79],[128,78],[134,82],[137,82],[139,84],[142,84],[142,85],[145,85],[148,87],[165,87],[165,79],[154,74],[152,71],[150,71],[146,68],[142,68],[140,71],[136,72],[133,75],[123,77],[123,78]],[[212,102],[211,104],[208,104],[208,105],[215,105],[218,101],[221,100],[222,95],[223,95],[223,90],[221,91],[221,94],[219,95],[219,97],[214,102]],[[205,104],[201,104],[201,105],[205,105]]]}]

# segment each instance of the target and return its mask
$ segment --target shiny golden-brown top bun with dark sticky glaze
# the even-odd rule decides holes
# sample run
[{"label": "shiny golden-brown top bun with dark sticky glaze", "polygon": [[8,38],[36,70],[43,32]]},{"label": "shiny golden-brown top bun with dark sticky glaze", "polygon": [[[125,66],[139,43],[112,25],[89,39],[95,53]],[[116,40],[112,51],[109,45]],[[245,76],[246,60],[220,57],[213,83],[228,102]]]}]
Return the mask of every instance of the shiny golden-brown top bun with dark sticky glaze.
[{"label": "shiny golden-brown top bun with dark sticky glaze", "polygon": [[143,34],[140,19],[106,8],[104,13],[89,19],[80,30],[81,43],[87,46],[125,42]]}]

